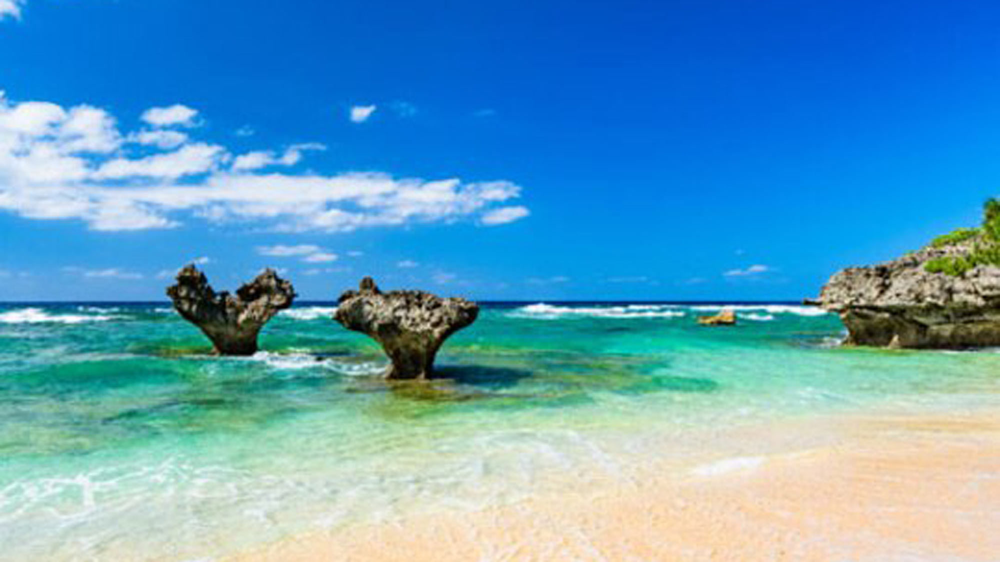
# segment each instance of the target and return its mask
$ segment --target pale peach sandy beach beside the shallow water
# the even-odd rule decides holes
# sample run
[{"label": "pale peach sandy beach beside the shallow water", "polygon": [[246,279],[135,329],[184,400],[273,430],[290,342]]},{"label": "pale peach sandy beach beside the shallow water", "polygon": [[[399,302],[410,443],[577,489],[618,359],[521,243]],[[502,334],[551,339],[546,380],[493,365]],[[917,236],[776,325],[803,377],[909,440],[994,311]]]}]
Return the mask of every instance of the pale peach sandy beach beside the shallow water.
[{"label": "pale peach sandy beach beside the shallow water", "polygon": [[1000,561],[1000,414],[837,428],[830,446],[340,527],[230,560]]}]

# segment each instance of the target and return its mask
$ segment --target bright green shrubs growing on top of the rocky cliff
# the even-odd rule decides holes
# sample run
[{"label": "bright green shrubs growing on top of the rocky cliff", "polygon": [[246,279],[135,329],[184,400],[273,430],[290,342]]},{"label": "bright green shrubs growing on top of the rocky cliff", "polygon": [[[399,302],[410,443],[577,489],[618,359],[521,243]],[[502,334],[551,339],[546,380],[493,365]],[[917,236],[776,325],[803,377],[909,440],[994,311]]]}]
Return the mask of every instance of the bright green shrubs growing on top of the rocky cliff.
[{"label": "bright green shrubs growing on top of the rocky cliff", "polygon": [[958,276],[977,265],[1000,267],[1000,200],[991,197],[983,204],[982,228],[959,228],[949,234],[938,236],[931,242],[931,246],[942,248],[970,240],[972,247],[965,255],[927,260],[924,270],[929,273]]}]

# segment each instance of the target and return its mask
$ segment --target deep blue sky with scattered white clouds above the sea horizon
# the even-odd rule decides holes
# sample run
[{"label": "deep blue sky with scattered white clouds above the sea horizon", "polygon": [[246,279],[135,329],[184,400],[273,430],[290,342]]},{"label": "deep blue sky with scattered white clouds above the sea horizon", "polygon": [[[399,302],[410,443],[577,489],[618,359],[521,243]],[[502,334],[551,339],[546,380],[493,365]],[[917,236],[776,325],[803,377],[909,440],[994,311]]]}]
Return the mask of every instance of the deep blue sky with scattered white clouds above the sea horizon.
[{"label": "deep blue sky with scattered white clouds above the sea horizon", "polygon": [[0,0],[0,300],[797,299],[1000,185],[989,2]]}]

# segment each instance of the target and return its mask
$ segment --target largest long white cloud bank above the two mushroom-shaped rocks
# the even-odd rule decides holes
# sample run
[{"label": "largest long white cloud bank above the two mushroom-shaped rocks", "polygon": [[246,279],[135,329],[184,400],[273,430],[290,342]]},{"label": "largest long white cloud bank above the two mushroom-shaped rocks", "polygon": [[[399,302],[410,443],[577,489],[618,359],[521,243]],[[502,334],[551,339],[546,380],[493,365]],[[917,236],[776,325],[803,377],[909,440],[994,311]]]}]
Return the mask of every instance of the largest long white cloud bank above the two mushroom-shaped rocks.
[{"label": "largest long white cloud bank above the two mushroom-shaped rocks", "polygon": [[[261,172],[246,161],[234,170],[227,166],[231,152],[221,145],[158,134],[175,132],[122,134],[114,117],[98,108],[12,103],[0,94],[0,211],[78,219],[104,231],[171,228],[197,218],[282,232],[345,232],[476,216],[494,225],[528,214],[524,207],[500,206],[521,193],[507,181]],[[142,143],[142,154],[131,156],[127,143]],[[295,145],[268,158],[297,163],[304,151],[318,148]]]}]

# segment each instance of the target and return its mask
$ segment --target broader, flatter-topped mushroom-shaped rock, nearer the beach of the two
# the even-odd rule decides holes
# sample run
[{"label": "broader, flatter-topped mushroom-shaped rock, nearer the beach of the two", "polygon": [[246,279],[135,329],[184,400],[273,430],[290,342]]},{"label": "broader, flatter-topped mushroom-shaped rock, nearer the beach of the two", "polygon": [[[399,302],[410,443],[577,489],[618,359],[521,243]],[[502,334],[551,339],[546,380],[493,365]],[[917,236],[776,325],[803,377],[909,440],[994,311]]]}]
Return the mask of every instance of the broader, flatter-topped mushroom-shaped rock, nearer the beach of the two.
[{"label": "broader, flatter-topped mushroom-shaped rock, nearer the beach of the two", "polygon": [[479,306],[462,298],[441,298],[424,291],[383,293],[371,277],[360,290],[340,296],[334,320],[367,334],[392,361],[386,378],[426,379],[434,357],[449,336],[475,322]]}]

